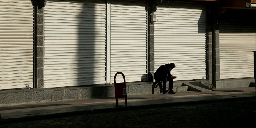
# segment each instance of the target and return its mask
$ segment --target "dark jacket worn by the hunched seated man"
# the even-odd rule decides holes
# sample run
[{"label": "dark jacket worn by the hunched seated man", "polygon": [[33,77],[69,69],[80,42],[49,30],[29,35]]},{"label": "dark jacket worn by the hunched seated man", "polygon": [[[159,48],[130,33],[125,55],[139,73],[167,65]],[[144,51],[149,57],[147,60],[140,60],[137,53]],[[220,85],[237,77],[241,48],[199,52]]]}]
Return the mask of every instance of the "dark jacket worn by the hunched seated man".
[{"label": "dark jacket worn by the hunched seated man", "polygon": [[166,75],[168,75],[169,77],[173,76],[171,75],[171,68],[168,68],[170,64],[165,64],[160,66],[157,71],[154,74],[155,78],[159,78],[159,77],[165,77]]}]

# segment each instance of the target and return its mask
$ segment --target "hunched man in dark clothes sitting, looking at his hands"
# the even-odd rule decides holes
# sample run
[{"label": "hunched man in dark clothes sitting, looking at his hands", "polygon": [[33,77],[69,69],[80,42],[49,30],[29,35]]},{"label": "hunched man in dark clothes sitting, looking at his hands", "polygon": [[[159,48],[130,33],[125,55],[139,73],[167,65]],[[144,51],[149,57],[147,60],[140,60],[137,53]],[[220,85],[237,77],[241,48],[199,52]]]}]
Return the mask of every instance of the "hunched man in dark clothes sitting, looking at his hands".
[{"label": "hunched man in dark clothes sitting, looking at his hands", "polygon": [[[163,81],[163,88],[162,92],[163,94],[167,93],[169,90],[170,94],[175,94],[175,92],[172,90],[173,89],[173,79],[177,78],[176,76],[171,75],[171,70],[175,68],[176,65],[174,63],[170,64],[165,64],[160,66],[157,71],[154,74],[154,79],[156,82]],[[166,83],[169,81],[169,89],[166,90]]]}]

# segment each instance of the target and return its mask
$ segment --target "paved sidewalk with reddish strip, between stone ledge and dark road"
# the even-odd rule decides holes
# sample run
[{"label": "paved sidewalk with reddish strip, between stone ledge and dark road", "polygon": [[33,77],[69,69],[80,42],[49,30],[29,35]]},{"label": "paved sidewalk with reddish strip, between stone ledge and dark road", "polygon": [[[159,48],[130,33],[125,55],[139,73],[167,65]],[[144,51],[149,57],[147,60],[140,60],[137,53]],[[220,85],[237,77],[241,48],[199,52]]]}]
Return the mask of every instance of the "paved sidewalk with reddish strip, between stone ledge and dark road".
[{"label": "paved sidewalk with reddish strip, between stone ledge and dark road", "polygon": [[223,88],[208,92],[185,91],[176,94],[167,93],[164,95],[127,95],[128,106],[125,106],[124,98],[118,98],[118,105],[120,105],[118,107],[116,107],[115,104],[115,97],[3,106],[0,107],[0,124],[104,111],[227,102],[245,99],[256,100],[255,87]]}]

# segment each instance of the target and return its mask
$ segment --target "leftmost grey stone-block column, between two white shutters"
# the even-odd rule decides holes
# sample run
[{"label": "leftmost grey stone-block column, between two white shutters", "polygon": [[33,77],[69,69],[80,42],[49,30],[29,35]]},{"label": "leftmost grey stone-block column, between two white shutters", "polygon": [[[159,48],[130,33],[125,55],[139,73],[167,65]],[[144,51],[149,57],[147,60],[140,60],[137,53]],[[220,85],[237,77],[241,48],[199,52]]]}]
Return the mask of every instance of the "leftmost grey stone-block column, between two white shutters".
[{"label": "leftmost grey stone-block column, between two white shutters", "polygon": [[44,7],[35,13],[35,87],[44,88]]}]

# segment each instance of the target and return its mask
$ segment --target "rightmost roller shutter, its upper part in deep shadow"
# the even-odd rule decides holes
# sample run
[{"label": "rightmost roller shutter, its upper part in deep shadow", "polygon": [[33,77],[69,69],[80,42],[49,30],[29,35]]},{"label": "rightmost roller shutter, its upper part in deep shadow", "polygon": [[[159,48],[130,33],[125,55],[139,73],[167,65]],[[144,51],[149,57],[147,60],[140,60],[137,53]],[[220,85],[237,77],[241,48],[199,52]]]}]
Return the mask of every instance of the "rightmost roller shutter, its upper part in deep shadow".
[{"label": "rightmost roller shutter, its upper part in deep shadow", "polygon": [[220,21],[220,79],[254,77],[255,23]]}]

